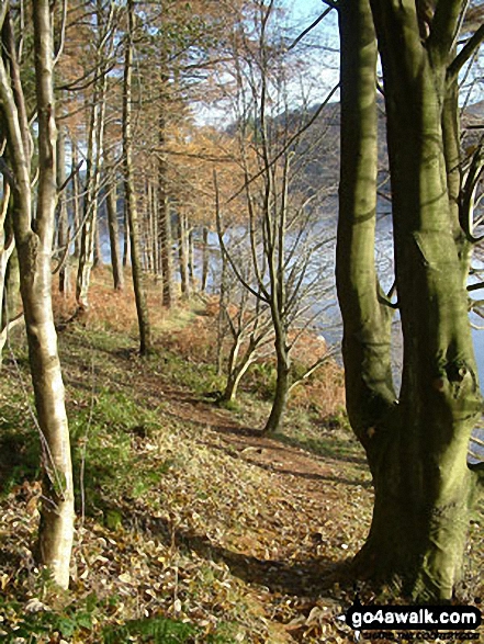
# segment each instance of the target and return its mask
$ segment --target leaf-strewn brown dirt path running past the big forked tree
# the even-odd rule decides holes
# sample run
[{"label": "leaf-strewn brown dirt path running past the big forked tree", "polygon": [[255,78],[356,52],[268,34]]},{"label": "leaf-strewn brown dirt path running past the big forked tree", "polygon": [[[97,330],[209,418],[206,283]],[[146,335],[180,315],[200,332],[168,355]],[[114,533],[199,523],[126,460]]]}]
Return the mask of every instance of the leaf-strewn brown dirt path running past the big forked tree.
[{"label": "leaf-strewn brown dirt path running past the big forked tree", "polygon": [[[69,375],[71,386],[86,389],[86,365],[78,360],[83,351],[80,346],[79,354],[69,355]],[[144,499],[122,506],[123,515],[143,539],[176,543],[179,552],[229,570],[254,612],[280,629],[278,642],[322,641],[326,628],[335,629],[335,614],[354,597],[351,583],[342,580],[370,519],[370,482],[361,460],[351,449],[320,455],[288,437],[263,437],[233,411],[173,382],[162,363],[144,362],[131,349],[108,354],[109,368],[104,359],[94,365],[95,387],[153,409],[155,422],[171,431],[172,453],[183,441],[184,450],[195,443],[193,451],[204,454],[200,472],[183,472],[182,463],[181,472],[166,475],[170,519],[155,516]],[[139,456],[155,449],[156,427],[153,445],[146,444],[149,432],[132,431]],[[320,431],[331,443],[329,430]],[[161,460],[165,447],[161,441]],[[196,515],[201,518],[193,519]],[[309,636],[313,630],[316,639]]]}]

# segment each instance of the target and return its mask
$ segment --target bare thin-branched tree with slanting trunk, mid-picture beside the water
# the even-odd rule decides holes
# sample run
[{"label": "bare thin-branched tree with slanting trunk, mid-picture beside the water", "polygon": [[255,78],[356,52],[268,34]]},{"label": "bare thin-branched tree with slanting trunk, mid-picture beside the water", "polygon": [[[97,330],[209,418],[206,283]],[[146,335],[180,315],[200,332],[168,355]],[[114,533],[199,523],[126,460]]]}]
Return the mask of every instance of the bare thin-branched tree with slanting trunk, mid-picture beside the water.
[{"label": "bare thin-branched tree with slanting trunk, mid-picture beside the water", "polygon": [[250,36],[237,34],[234,42],[236,134],[245,178],[240,192],[246,201],[252,283],[222,240],[240,282],[270,310],[277,382],[266,433],[282,426],[292,384],[292,351],[316,315],[328,276],[323,268],[327,234],[314,207],[318,195],[299,183],[303,163],[297,144],[312,117],[288,108],[289,60],[275,16],[273,2],[256,2]]}]

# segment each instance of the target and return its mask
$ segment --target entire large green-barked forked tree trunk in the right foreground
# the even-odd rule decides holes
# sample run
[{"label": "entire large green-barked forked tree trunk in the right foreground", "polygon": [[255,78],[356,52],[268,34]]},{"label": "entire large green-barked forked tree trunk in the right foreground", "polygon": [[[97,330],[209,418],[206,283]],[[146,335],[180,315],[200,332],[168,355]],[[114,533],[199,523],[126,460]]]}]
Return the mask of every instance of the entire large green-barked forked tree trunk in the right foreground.
[{"label": "entire large green-barked forked tree trunk in the right foreground", "polygon": [[[439,2],[437,12],[439,4],[446,3]],[[424,44],[415,2],[371,1],[384,75],[404,339],[398,404],[389,360],[392,309],[372,272],[372,14],[368,0],[340,8],[338,297],[348,410],[367,449],[375,492],[370,533],[354,564],[361,574],[399,579],[403,591],[420,600],[452,597],[476,484],[466,452],[481,396],[441,125],[447,36],[455,33],[459,4],[436,14]]]}]

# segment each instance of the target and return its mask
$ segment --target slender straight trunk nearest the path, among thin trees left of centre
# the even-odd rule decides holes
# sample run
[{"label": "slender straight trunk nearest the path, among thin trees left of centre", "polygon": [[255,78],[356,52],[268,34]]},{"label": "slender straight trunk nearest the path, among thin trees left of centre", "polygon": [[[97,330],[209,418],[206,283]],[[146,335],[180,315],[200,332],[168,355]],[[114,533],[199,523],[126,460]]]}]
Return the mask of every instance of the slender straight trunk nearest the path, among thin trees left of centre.
[{"label": "slender straight trunk nearest the path, among thin trees left of centre", "polygon": [[124,195],[127,221],[130,222],[130,247],[133,272],[133,287],[136,300],[136,312],[139,327],[139,352],[146,355],[151,350],[149,314],[143,285],[142,258],[139,249],[139,226],[134,190],[133,172],[133,134],[132,134],[132,74],[133,74],[133,32],[134,32],[134,0],[127,0],[128,37],[124,57],[123,81],[123,159],[124,159]]}]

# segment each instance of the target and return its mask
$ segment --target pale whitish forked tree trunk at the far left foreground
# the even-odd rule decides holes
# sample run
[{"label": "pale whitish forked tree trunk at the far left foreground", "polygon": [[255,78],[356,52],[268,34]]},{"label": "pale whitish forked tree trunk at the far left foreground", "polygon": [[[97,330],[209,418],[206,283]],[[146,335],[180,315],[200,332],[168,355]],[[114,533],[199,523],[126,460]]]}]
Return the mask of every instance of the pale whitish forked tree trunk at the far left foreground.
[{"label": "pale whitish forked tree trunk at the far left foreground", "polygon": [[[29,357],[43,448],[43,502],[37,554],[54,580],[67,588],[74,535],[74,492],[64,384],[57,352],[50,301],[50,257],[54,238],[56,191],[56,126],[53,92],[53,38],[48,0],[32,2],[35,48],[35,88],[38,123],[38,188],[32,217],[31,145],[24,117],[15,47],[9,46],[3,24],[4,49],[0,58],[0,98],[8,147],[12,160],[14,234],[19,252],[21,294],[29,340]],[[10,66],[7,72],[5,58]],[[13,70],[13,72],[12,72]],[[35,229],[32,227],[35,221]]]}]

